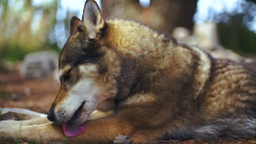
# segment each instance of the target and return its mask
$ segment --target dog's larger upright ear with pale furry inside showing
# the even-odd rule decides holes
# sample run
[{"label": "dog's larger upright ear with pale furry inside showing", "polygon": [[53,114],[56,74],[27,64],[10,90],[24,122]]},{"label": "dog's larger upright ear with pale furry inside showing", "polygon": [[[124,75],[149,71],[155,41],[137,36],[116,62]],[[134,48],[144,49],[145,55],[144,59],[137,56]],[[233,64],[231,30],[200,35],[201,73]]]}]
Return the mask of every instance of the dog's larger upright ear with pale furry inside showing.
[{"label": "dog's larger upright ear with pale furry inside showing", "polygon": [[94,0],[87,0],[85,2],[82,23],[91,39],[97,38],[106,25],[101,10]]}]

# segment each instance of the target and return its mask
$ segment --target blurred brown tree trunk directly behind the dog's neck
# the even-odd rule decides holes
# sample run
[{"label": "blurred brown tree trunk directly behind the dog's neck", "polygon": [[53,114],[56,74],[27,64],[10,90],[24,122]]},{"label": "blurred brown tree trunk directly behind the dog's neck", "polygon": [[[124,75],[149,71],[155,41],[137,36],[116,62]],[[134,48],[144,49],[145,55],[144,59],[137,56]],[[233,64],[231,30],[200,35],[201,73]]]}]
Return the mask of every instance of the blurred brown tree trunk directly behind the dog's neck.
[{"label": "blurred brown tree trunk directly behind the dog's neck", "polygon": [[151,0],[148,8],[138,0],[101,0],[101,4],[106,19],[132,19],[171,34],[174,27],[192,30],[197,0]]}]

